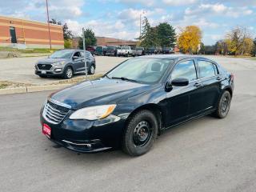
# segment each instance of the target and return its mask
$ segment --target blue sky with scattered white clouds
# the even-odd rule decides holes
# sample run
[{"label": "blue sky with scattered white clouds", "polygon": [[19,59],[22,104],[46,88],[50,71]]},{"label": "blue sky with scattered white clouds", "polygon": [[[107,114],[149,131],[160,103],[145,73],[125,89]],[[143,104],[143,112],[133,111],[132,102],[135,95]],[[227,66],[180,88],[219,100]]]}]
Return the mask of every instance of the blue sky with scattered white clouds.
[{"label": "blue sky with scattered white clouds", "polygon": [[[256,0],[49,0],[49,6],[50,18],[66,22],[74,34],[81,34],[85,26],[98,36],[134,39],[143,12],[151,26],[169,22],[177,31],[199,26],[207,45],[234,26],[246,26],[256,34]],[[0,14],[46,22],[46,4],[44,0],[0,0]]]}]

